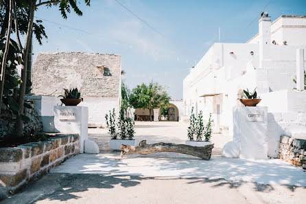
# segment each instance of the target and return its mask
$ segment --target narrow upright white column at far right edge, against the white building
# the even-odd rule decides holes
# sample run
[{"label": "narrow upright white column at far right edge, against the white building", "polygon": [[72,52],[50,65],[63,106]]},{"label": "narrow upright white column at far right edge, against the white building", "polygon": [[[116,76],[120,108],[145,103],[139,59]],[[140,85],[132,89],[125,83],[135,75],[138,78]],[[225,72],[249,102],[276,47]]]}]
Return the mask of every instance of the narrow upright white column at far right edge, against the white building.
[{"label": "narrow upright white column at far right edge, against the white building", "polygon": [[304,49],[296,49],[296,89],[305,89],[304,80]]}]

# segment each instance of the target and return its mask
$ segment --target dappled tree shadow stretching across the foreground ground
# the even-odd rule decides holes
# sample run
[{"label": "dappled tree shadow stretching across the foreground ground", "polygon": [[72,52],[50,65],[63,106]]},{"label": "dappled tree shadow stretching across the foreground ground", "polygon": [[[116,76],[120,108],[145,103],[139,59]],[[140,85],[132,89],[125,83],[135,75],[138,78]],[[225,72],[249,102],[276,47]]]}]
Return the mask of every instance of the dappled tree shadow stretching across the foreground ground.
[{"label": "dappled tree shadow stretching across the foreground ground", "polygon": [[[177,181],[178,180],[178,181]],[[3,201],[3,203],[39,203],[39,201],[70,201],[84,199],[88,196],[86,192],[95,190],[103,198],[106,189],[114,188],[132,188],[137,185],[152,183],[152,187],[157,183],[170,184],[180,182],[185,188],[191,188],[194,185],[209,185],[209,188],[229,188],[237,189],[246,184],[243,181],[226,181],[224,179],[207,179],[207,178],[179,178],[179,177],[141,177],[141,176],[106,176],[99,174],[48,174],[38,181],[31,183],[26,189],[16,196]],[[48,183],[48,185],[46,185]],[[172,184],[173,185],[173,184]],[[190,186],[189,186],[190,185]],[[253,191],[255,192],[272,192],[272,185],[263,185],[254,183]],[[156,188],[156,186],[155,186]],[[288,186],[294,191],[296,187]],[[305,188],[304,188],[305,189]],[[122,190],[121,190],[122,191]],[[83,194],[84,193],[84,194]],[[120,192],[118,192],[120,194]],[[29,202],[27,202],[27,199]]]}]

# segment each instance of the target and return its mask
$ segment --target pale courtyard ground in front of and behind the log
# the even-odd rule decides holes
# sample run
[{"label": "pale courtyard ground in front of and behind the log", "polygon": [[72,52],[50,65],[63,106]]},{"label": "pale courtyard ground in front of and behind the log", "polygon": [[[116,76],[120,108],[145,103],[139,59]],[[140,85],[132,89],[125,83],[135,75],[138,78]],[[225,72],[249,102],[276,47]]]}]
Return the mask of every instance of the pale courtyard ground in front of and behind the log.
[{"label": "pale courtyard ground in front of and behind the log", "polygon": [[[137,143],[181,143],[187,124],[137,122]],[[109,150],[107,129],[89,129],[100,153],[77,155],[3,203],[305,203],[306,172],[280,159],[220,157],[232,138],[215,134],[213,157],[204,161],[161,152],[125,155]]]}]

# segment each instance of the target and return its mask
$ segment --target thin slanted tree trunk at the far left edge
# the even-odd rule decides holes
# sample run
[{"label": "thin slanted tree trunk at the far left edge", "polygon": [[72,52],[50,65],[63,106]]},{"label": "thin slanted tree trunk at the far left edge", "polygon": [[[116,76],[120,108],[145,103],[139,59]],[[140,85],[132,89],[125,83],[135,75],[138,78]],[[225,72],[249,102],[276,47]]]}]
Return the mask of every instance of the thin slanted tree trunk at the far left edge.
[{"label": "thin slanted tree trunk at the far left edge", "polygon": [[8,51],[10,49],[10,32],[12,28],[12,2],[10,0],[10,11],[8,14],[8,34],[6,36],[5,41],[5,51],[2,58],[2,65],[1,65],[1,85],[0,85],[0,115],[1,115],[1,108],[2,108],[2,96],[3,96],[3,87],[4,87],[4,80],[5,80],[5,68],[6,68],[6,58],[8,56]]}]

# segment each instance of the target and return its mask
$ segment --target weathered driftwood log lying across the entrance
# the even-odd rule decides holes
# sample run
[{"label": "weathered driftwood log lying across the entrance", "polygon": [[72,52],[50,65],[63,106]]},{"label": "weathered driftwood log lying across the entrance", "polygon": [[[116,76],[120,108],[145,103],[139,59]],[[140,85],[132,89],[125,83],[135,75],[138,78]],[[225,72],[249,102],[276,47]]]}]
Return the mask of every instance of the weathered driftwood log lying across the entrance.
[{"label": "weathered driftwood log lying across the entrance", "polygon": [[191,155],[193,157],[200,157],[204,160],[209,160],[211,158],[211,150],[213,149],[213,144],[207,146],[189,146],[185,144],[173,144],[173,143],[157,143],[157,144],[147,144],[146,140],[139,142],[139,146],[129,146],[121,144],[121,157],[123,155],[129,154],[141,154],[148,155],[156,152],[178,152],[185,155]]}]

